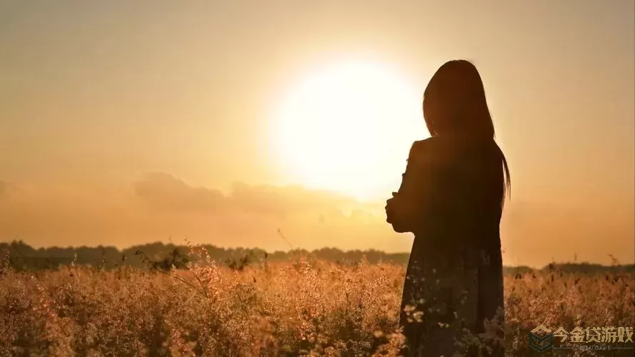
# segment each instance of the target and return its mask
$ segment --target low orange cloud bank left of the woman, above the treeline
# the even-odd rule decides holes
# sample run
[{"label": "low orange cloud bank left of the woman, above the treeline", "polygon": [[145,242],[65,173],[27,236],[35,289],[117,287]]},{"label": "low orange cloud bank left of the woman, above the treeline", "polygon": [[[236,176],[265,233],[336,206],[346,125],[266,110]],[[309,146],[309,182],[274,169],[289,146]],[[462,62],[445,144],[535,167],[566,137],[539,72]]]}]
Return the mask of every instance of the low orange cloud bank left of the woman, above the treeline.
[{"label": "low orange cloud bank left of the woman, above the treeline", "polygon": [[359,213],[369,206],[301,186],[234,183],[222,192],[154,173],[123,184],[40,182],[20,192],[0,200],[0,241],[125,247],[187,236],[219,246],[289,248],[280,228],[299,248],[409,249],[381,215]]}]

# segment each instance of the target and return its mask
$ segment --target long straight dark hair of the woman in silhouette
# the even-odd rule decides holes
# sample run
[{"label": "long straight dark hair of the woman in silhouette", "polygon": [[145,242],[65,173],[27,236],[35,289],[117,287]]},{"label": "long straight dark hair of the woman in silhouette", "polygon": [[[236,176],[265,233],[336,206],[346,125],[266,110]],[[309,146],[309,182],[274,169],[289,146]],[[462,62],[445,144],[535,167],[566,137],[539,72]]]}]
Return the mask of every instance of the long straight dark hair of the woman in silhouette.
[{"label": "long straight dark hair of the woman in silhouette", "polygon": [[[495,138],[481,75],[469,61],[448,61],[439,67],[424,92],[423,109],[431,136],[476,140]],[[511,180],[502,151],[500,156],[504,174],[502,205],[511,193]]]}]

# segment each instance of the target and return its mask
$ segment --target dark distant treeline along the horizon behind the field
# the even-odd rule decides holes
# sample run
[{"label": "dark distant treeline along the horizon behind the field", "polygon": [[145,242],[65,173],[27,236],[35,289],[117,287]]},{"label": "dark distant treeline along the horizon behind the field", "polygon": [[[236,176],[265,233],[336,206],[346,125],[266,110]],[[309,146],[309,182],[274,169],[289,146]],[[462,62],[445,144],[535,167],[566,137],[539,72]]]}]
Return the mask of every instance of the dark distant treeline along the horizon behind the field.
[{"label": "dark distant treeline along the horizon behind the field", "polygon": [[[211,244],[202,245],[210,258],[216,263],[241,269],[250,263],[261,261],[287,261],[294,256],[311,256],[312,258],[341,264],[359,263],[366,259],[369,263],[396,263],[406,265],[409,253],[386,253],[374,249],[367,251],[341,251],[338,248],[321,248],[314,251],[304,249],[294,251],[267,252],[260,248],[221,248]],[[79,246],[33,248],[24,241],[0,243],[0,252],[6,254],[11,266],[19,271],[54,269],[60,266],[76,265],[97,266],[100,268],[116,268],[148,266],[169,270],[171,267],[181,268],[191,260],[188,246],[177,246],[173,243],[146,243],[119,250],[114,246]],[[561,271],[565,273],[610,273],[627,271],[635,273],[635,264],[604,266],[593,263],[551,263],[541,271]],[[505,266],[504,272],[510,274],[530,273],[534,269],[528,266]]]}]

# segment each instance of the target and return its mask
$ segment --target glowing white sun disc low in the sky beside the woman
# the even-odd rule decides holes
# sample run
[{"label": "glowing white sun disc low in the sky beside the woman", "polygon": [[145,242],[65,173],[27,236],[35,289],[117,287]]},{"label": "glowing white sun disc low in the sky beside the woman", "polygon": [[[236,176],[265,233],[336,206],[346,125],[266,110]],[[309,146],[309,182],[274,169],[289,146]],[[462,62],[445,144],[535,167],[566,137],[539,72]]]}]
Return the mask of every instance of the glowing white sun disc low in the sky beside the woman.
[{"label": "glowing white sun disc low in the sky beside the woman", "polygon": [[412,141],[428,136],[421,91],[374,63],[314,71],[291,87],[275,120],[272,139],[284,174],[360,199],[396,191]]}]

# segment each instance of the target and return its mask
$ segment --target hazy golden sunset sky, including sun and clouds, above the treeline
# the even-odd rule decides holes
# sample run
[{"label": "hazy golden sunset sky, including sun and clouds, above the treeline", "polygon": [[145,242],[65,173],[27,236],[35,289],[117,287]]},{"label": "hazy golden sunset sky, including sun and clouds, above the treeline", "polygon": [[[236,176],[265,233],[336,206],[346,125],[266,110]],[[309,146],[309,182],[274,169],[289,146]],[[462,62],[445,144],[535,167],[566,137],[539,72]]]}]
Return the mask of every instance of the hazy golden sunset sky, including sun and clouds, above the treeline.
[{"label": "hazy golden sunset sky, including sun and clouds, above the treeline", "polygon": [[409,251],[384,201],[457,58],[509,161],[504,263],[633,263],[629,0],[0,1],[0,240]]}]

